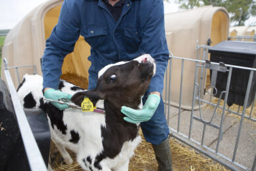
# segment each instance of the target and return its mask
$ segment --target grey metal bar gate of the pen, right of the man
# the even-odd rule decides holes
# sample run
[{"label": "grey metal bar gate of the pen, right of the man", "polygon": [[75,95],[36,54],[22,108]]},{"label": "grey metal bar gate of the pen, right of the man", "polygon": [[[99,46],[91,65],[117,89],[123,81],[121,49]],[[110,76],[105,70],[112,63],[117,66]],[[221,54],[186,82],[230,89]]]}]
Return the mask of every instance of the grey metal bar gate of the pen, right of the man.
[{"label": "grey metal bar gate of the pen, right of the man", "polygon": [[[197,57],[197,59],[185,59],[185,58],[181,58],[181,57],[174,57],[172,55],[172,53],[170,53],[170,58],[169,58],[169,65],[168,65],[168,70],[166,70],[166,72],[168,72],[169,76],[168,76],[168,82],[165,82],[165,87],[166,89],[168,89],[168,91],[165,91],[165,114],[166,117],[168,118],[167,122],[168,125],[170,123],[169,121],[169,116],[170,116],[170,90],[171,90],[171,82],[172,82],[172,64],[174,64],[174,59],[181,61],[181,79],[180,79],[180,99],[179,99],[179,109],[178,109],[178,124],[177,124],[177,128],[170,128],[170,135],[172,135],[173,137],[175,137],[176,139],[182,141],[183,143],[186,143],[187,145],[190,145],[191,147],[193,147],[194,149],[196,149],[197,151],[199,151],[200,153],[202,153],[203,155],[206,155],[207,157],[216,160],[217,162],[219,162],[220,164],[222,164],[223,166],[226,166],[226,168],[229,168],[230,170],[238,170],[238,168],[242,168],[243,170],[255,170],[255,166],[256,166],[256,151],[255,151],[255,157],[252,163],[252,167],[247,168],[246,166],[243,166],[242,164],[236,162],[236,156],[237,156],[237,151],[238,151],[238,145],[240,144],[240,137],[242,135],[242,127],[243,127],[243,122],[244,122],[244,118],[247,118],[248,120],[251,120],[252,122],[256,122],[256,118],[253,118],[252,116],[252,112],[253,112],[253,107],[255,105],[255,99],[256,99],[256,93],[255,93],[255,97],[253,100],[253,103],[251,105],[251,111],[249,112],[249,116],[245,115],[245,109],[247,107],[247,101],[248,101],[248,97],[249,97],[249,93],[251,90],[251,86],[252,86],[252,82],[253,82],[253,75],[256,74],[256,68],[248,68],[248,67],[244,67],[244,66],[236,66],[236,65],[232,65],[232,64],[223,64],[223,63],[217,63],[217,62],[210,62],[207,61],[208,59],[208,46],[205,45],[198,45],[197,46],[197,50],[198,49],[203,49],[203,53],[201,53],[201,55],[203,55],[204,57],[202,57],[201,59],[203,60],[199,60],[200,58]],[[201,56],[199,55],[199,56]],[[180,122],[181,122],[181,109],[180,107],[182,106],[182,87],[184,84],[184,62],[193,62],[195,64],[195,74],[194,74],[194,82],[193,82],[193,99],[192,99],[192,110],[191,110],[191,114],[190,114],[190,126],[189,126],[189,132],[188,135],[183,134],[182,132],[180,132]],[[234,111],[234,110],[230,110],[230,107],[227,107],[227,101],[228,101],[228,94],[229,94],[229,90],[230,90],[230,81],[231,81],[231,77],[232,77],[232,71],[233,69],[241,69],[241,70],[248,70],[249,71],[249,80],[247,82],[247,89],[246,89],[246,93],[245,93],[245,99],[244,99],[244,103],[243,103],[243,110],[242,113],[240,113],[240,107],[238,109],[238,111]],[[206,72],[207,70],[211,70],[212,71],[212,82],[211,83],[211,87],[213,89],[216,89],[214,82],[216,82],[216,78],[214,76],[214,72],[216,72],[216,77],[217,77],[217,72],[227,72],[227,79],[226,79],[226,89],[224,91],[222,91],[218,97],[218,102],[217,104],[213,103],[211,101],[211,99],[213,98],[213,93],[211,92],[210,95],[210,99],[209,101],[204,99],[204,94],[202,92],[203,89],[205,89],[205,80],[206,80]],[[201,71],[201,72],[200,72]],[[167,76],[167,75],[166,75]],[[213,91],[212,89],[212,91]],[[168,93],[167,93],[168,92]],[[220,99],[221,97],[224,96],[224,105],[223,107],[220,107]],[[168,97],[168,98],[167,98]],[[195,116],[194,114],[194,107],[195,107],[195,101],[198,102],[199,105],[199,116]],[[201,103],[207,104],[207,105],[211,105],[214,107],[213,109],[213,114],[210,115],[210,119],[207,121],[205,120],[205,118],[203,118],[202,114],[201,114]],[[221,118],[220,118],[220,123],[219,124],[215,124],[213,123],[213,118],[216,117],[216,111],[217,109],[221,109]],[[223,124],[224,124],[224,119],[226,117],[226,112],[230,112],[233,114],[236,114],[238,116],[240,116],[240,124],[238,126],[238,134],[236,135],[236,142],[235,142],[235,147],[233,149],[233,154],[232,154],[232,158],[226,157],[225,155],[219,153],[219,147],[220,147],[220,141],[222,140],[222,136],[224,134],[223,132]],[[192,138],[192,132],[195,132],[196,130],[193,130],[193,120],[197,120],[198,122],[201,122],[203,124],[203,131],[201,132],[201,141],[196,141],[195,139]],[[215,128],[218,130],[218,135],[217,135],[217,145],[215,147],[215,149],[211,149],[211,147],[207,147],[207,145],[205,145],[204,139],[205,139],[205,130],[206,127],[210,126],[212,128]],[[253,151],[252,151],[253,152]]]}]

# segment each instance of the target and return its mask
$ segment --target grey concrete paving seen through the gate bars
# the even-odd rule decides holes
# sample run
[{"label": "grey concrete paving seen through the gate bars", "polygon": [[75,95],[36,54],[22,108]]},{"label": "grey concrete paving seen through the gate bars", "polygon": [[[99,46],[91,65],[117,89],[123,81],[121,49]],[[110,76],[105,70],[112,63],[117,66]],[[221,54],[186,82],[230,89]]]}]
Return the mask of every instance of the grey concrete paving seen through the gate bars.
[{"label": "grey concrete paving seen through the gate bars", "polygon": [[[174,130],[178,130],[178,108],[170,107],[169,112],[169,126]],[[193,112],[193,116],[200,118],[199,110]],[[209,122],[213,116],[213,109],[209,107],[203,107],[201,109],[201,117],[203,120]],[[217,112],[213,117],[211,123],[220,125],[222,114]],[[180,128],[179,132],[184,135],[189,135],[190,131],[190,110],[180,111]],[[240,118],[234,116],[234,114],[226,114],[223,123],[223,136],[219,142],[218,153],[232,159],[234,153],[234,147],[238,136],[238,128],[240,126]],[[203,139],[203,145],[215,150],[218,141],[218,130],[211,126],[206,126],[205,138]],[[191,137],[195,141],[201,143],[203,134],[203,123],[193,119],[192,134]],[[251,170],[253,160],[256,156],[256,122],[251,122],[247,119],[243,120],[242,132],[240,136],[240,143],[236,152],[235,161]],[[240,169],[242,170],[242,169]]]}]

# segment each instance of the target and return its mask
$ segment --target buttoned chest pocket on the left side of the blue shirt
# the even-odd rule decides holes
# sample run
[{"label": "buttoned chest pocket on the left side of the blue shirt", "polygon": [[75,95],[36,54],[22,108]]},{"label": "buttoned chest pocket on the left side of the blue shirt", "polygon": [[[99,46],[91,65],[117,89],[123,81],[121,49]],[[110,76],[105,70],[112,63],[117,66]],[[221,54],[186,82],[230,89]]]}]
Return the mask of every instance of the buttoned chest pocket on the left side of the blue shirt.
[{"label": "buttoned chest pocket on the left side of the blue shirt", "polygon": [[86,42],[93,49],[104,51],[104,44],[107,43],[107,26],[88,26],[87,28],[82,28],[81,35],[84,36]]}]

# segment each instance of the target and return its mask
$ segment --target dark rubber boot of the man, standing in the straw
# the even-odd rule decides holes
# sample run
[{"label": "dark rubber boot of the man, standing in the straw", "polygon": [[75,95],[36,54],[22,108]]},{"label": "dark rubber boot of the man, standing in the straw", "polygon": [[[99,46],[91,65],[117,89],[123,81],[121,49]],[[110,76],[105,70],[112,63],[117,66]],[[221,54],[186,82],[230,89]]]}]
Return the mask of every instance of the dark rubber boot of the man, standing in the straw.
[{"label": "dark rubber boot of the man, standing in the straw", "polygon": [[155,158],[158,162],[159,171],[172,171],[172,158],[170,155],[170,143],[169,139],[166,138],[165,141],[159,145],[153,145],[152,147],[155,151]]}]

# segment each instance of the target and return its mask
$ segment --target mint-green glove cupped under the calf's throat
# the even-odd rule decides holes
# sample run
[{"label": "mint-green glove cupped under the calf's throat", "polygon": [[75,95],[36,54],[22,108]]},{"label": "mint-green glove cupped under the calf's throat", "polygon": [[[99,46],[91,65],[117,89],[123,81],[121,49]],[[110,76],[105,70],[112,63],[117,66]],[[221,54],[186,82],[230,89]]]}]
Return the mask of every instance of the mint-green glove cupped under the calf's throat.
[{"label": "mint-green glove cupped under the calf's throat", "polygon": [[122,106],[121,112],[127,117],[124,117],[124,120],[131,122],[133,124],[138,124],[140,122],[145,122],[151,119],[155,110],[160,103],[160,97],[156,94],[151,94],[147,97],[145,105],[141,110],[135,110],[130,107]]}]

